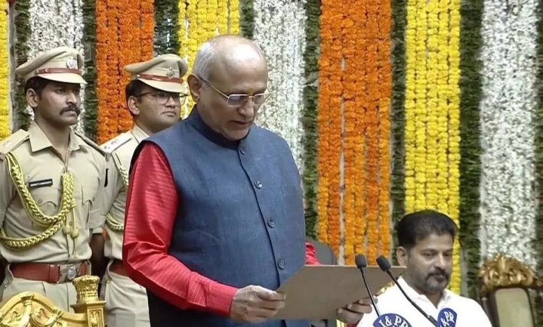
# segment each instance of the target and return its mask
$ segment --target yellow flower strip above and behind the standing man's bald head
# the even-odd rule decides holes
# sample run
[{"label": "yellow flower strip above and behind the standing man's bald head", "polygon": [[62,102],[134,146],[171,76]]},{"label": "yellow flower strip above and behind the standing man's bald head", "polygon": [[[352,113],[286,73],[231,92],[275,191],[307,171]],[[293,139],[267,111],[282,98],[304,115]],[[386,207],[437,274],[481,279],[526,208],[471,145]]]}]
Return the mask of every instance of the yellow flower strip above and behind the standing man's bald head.
[{"label": "yellow flower strip above and behind the standing man's bald head", "polygon": [[[230,5],[230,6],[228,6]],[[239,1],[233,0],[180,0],[179,43],[180,56],[187,60],[189,72],[194,64],[198,46],[215,35],[239,33]],[[188,27],[187,27],[188,26]],[[230,26],[230,31],[228,31]],[[188,90],[188,86],[185,85]],[[194,106],[189,99],[182,108],[186,117]]]}]

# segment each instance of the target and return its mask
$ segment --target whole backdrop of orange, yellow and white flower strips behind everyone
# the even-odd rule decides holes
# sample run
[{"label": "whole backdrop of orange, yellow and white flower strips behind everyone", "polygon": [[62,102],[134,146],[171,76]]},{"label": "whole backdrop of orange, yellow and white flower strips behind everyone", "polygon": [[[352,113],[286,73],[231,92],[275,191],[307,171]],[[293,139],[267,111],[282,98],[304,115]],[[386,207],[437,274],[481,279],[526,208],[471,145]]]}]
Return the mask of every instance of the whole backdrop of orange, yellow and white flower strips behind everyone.
[{"label": "whole backdrop of orange, yellow and white flower strips behind everyone", "polygon": [[13,70],[45,49],[84,55],[76,128],[103,143],[132,127],[124,65],[177,53],[190,66],[207,38],[241,33],[269,60],[257,122],[290,144],[307,234],[340,263],[393,259],[395,222],[438,209],[460,228],[455,292],[476,296],[496,253],[543,272],[540,0],[2,3],[0,138],[28,127]]}]

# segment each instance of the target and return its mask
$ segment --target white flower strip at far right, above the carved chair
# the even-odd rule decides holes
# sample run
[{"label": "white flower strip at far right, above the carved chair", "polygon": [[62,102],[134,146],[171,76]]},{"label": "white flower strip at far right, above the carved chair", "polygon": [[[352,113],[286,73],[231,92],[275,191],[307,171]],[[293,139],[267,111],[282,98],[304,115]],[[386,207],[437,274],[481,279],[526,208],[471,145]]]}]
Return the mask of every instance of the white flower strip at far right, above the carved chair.
[{"label": "white flower strip at far right, above the carved chair", "polygon": [[535,268],[537,0],[484,6],[481,257],[505,253]]}]

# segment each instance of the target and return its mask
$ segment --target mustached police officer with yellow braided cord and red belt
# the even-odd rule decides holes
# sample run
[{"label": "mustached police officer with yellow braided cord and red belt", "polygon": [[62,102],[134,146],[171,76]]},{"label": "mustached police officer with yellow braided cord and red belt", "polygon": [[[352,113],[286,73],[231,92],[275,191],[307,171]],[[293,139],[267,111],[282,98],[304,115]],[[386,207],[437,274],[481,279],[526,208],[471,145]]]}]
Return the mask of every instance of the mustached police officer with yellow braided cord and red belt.
[{"label": "mustached police officer with yellow braided cord and red belt", "polygon": [[17,67],[35,119],[0,142],[0,254],[7,262],[3,299],[33,291],[70,310],[73,278],[91,273],[96,194],[105,152],[71,126],[81,108],[83,58],[58,47]]}]

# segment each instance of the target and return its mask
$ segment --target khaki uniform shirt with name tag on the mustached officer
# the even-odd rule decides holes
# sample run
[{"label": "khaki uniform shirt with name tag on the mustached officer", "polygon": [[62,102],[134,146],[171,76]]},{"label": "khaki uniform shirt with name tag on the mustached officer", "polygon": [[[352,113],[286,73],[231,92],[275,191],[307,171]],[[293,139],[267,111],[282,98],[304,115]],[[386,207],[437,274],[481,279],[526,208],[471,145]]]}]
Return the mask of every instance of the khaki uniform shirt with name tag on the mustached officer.
[{"label": "khaki uniform shirt with name tag on the mustached officer", "polygon": [[[8,168],[8,161],[12,169]],[[63,161],[36,123],[28,132],[20,130],[0,141],[2,257],[10,263],[88,260],[91,257],[89,230],[100,224],[100,204],[95,200],[97,191],[104,186],[105,163],[104,152],[74,131],[70,131],[68,152]],[[11,176],[17,166],[20,167],[19,186],[29,191],[31,199],[22,200],[17,192]],[[71,173],[73,177],[71,191],[63,188],[63,173]],[[67,193],[72,193],[74,207],[62,215],[62,199]],[[54,232],[54,223],[40,225],[31,219],[23,201],[34,202],[34,208],[45,216],[62,216],[56,219],[60,228]]]}]

